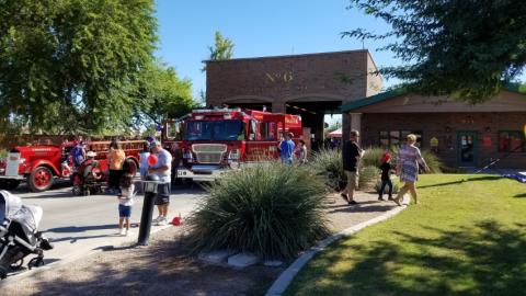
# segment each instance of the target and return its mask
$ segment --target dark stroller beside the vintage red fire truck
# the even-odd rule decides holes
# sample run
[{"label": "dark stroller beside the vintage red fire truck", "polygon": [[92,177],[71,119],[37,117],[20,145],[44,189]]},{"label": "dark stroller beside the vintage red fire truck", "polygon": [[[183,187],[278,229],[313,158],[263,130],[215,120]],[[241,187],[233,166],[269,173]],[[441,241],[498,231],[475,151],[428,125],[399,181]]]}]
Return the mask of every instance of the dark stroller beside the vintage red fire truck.
[{"label": "dark stroller beside the vintage red fire truck", "polygon": [[104,183],[105,178],[101,164],[95,160],[95,152],[89,151],[87,153],[88,158],[71,175],[75,195],[90,195],[102,192],[102,183]]}]

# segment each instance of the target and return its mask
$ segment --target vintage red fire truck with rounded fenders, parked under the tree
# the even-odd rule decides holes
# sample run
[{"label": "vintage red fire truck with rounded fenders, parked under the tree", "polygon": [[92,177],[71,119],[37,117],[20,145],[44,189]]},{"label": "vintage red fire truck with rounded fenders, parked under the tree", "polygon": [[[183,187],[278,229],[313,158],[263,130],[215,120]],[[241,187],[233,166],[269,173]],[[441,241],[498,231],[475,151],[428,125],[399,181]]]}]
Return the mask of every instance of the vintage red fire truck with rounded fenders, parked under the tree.
[{"label": "vintage red fire truck with rounded fenders, parked under the tree", "polygon": [[[138,168],[142,144],[142,140],[121,141],[126,157],[133,160],[135,168]],[[110,141],[87,143],[87,151],[96,152],[95,159],[104,172],[107,171],[108,146]],[[72,171],[68,168],[72,168],[69,158],[72,147],[73,143],[14,147],[7,159],[0,160],[0,189],[14,190],[26,180],[33,192],[42,192],[53,185],[55,178],[70,178]],[[64,162],[68,166],[62,166]]]}]

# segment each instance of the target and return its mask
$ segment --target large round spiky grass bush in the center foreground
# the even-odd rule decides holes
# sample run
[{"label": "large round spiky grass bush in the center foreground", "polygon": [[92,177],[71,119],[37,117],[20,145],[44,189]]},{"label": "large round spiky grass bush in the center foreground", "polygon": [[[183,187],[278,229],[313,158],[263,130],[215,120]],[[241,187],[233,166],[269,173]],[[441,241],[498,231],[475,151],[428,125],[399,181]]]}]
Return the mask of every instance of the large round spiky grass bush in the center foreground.
[{"label": "large round spiky grass bush in the center foreground", "polygon": [[188,218],[195,251],[230,249],[293,259],[329,235],[327,187],[297,166],[258,164],[226,174]]}]

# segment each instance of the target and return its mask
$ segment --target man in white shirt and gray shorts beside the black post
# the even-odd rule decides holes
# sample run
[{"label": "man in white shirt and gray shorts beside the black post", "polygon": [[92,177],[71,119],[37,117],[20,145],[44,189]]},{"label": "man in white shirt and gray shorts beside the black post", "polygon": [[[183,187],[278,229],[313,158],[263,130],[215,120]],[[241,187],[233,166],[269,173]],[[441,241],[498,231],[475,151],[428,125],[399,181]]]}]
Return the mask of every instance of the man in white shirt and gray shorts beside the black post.
[{"label": "man in white shirt and gray shorts beside the black post", "polygon": [[148,173],[156,174],[163,182],[157,187],[157,198],[155,204],[159,209],[159,217],[153,219],[157,225],[168,224],[168,206],[170,205],[170,179],[172,171],[172,155],[164,150],[160,141],[151,143],[151,152],[157,156],[157,163],[148,168]]}]

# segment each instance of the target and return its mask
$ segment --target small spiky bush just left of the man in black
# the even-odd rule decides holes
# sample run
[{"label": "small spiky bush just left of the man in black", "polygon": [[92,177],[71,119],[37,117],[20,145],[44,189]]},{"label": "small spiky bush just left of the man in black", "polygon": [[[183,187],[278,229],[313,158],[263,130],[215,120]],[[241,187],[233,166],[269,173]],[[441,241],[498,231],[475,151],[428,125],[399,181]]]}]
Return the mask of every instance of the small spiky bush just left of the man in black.
[{"label": "small spiky bush just left of the man in black", "polygon": [[313,152],[312,160],[308,162],[308,167],[333,190],[342,189],[342,184],[346,180],[343,172],[341,150],[321,149]]}]

